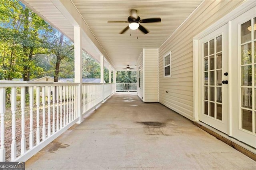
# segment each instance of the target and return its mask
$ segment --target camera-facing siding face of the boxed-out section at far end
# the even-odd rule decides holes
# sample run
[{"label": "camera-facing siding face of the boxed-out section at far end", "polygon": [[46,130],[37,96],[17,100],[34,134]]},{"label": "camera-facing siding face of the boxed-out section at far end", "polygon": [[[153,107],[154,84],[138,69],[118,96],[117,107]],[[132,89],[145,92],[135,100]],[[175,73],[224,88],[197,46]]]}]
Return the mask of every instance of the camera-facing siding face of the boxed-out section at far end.
[{"label": "camera-facing siding face of the boxed-out section at far end", "polygon": [[158,102],[158,49],[144,49],[144,101]]}]

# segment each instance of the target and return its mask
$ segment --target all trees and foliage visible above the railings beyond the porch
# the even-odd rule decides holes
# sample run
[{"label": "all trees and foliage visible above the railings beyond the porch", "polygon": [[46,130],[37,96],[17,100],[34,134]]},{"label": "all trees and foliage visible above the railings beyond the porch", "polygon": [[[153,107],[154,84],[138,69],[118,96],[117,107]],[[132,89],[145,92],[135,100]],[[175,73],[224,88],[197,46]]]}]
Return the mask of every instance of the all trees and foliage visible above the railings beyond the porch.
[{"label": "all trees and foliage visible above the railings beyond the porch", "polygon": [[[85,52],[82,57],[82,77],[100,78],[100,63]],[[73,43],[18,0],[0,0],[0,79],[45,75],[74,78]],[[104,80],[109,82],[106,68]],[[136,72],[118,71],[117,82],[136,82]]]}]

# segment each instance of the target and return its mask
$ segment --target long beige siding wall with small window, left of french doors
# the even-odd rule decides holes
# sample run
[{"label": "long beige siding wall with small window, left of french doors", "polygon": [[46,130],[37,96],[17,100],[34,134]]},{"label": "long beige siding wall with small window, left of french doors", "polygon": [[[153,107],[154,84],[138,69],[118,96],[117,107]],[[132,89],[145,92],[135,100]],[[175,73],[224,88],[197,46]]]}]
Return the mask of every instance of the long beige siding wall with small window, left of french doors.
[{"label": "long beige siding wall with small window, left of french doors", "polygon": [[[190,120],[193,114],[193,37],[242,4],[206,0],[159,48],[159,102]],[[172,51],[172,76],[164,77],[164,55]],[[168,93],[166,93],[168,91]]]}]

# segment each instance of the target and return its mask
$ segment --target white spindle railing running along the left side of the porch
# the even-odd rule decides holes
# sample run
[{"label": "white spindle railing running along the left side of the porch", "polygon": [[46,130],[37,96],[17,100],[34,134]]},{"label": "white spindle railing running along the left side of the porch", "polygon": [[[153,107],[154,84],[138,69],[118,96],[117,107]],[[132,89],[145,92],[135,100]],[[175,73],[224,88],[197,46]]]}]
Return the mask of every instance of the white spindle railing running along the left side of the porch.
[{"label": "white spindle railing running along the left side of the porch", "polygon": [[[111,84],[83,84],[82,113],[112,93]],[[77,94],[78,83],[0,81],[0,162],[28,160],[78,122]]]}]

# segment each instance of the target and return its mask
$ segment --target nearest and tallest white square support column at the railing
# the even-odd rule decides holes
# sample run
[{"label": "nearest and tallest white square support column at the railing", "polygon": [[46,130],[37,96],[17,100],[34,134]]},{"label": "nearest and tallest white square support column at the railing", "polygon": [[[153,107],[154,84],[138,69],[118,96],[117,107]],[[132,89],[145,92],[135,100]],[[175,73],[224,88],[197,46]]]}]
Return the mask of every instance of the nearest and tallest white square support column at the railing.
[{"label": "nearest and tallest white square support column at the railing", "polygon": [[82,34],[79,26],[74,26],[74,53],[75,53],[75,83],[79,83],[76,93],[76,114],[79,117],[77,123],[82,122]]}]

